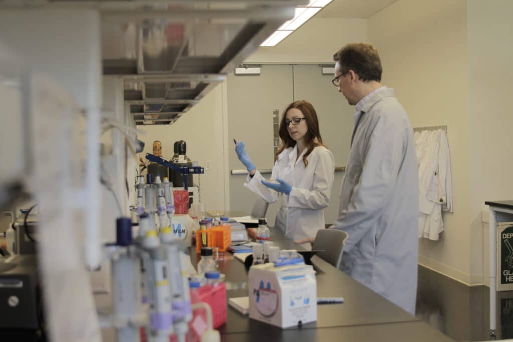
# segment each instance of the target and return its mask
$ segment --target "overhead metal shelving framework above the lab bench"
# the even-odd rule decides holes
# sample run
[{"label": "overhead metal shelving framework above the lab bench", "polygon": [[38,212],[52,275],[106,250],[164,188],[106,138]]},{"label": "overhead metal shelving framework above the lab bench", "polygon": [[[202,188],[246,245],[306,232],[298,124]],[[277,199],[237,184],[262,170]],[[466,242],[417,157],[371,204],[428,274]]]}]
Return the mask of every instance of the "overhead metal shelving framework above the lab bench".
[{"label": "overhead metal shelving framework above the lab bench", "polygon": [[173,124],[309,0],[0,0],[0,8],[93,8],[104,75],[122,76],[137,125]]}]

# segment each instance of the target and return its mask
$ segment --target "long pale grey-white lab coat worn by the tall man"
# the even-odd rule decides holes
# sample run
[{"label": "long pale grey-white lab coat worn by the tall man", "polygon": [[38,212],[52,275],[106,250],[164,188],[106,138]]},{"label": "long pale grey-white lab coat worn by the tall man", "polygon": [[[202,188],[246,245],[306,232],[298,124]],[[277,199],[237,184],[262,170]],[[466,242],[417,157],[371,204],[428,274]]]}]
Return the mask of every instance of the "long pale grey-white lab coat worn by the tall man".
[{"label": "long pale grey-white lab coat worn by the tall man", "polygon": [[347,162],[340,212],[331,227],[348,234],[341,269],[415,314],[419,187],[413,129],[386,88],[363,115]]}]

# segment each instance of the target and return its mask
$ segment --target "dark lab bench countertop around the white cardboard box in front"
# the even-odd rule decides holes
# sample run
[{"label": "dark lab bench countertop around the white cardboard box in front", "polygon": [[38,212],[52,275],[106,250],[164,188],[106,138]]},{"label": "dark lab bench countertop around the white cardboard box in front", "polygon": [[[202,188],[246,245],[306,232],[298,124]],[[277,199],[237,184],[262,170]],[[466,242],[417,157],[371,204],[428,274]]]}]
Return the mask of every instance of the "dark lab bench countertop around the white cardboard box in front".
[{"label": "dark lab bench countertop around the white cardboard box in front", "polygon": [[[274,239],[272,238],[274,237]],[[283,234],[271,228],[271,240],[280,249],[301,249]],[[226,281],[247,281],[247,270],[230,254],[219,260],[219,271]],[[191,255],[196,263],[196,254]],[[281,329],[250,319],[231,307],[221,340],[235,341],[452,341],[387,299],[371,291],[317,256],[312,257],[317,272],[318,297],[344,297],[344,304],[319,305],[317,322],[301,328]],[[417,276],[417,275],[415,275]],[[227,297],[248,295],[247,289],[228,290]]]}]

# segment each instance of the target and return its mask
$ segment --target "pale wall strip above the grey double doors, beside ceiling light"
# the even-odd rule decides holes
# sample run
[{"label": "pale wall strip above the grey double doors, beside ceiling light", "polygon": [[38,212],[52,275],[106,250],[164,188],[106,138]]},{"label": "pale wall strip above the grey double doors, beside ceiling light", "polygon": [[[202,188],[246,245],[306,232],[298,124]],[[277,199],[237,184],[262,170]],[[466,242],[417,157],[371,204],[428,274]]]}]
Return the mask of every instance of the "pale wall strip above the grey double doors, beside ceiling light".
[{"label": "pale wall strip above the grey double doors, beside ceiling light", "polygon": [[365,19],[312,18],[274,47],[260,47],[245,63],[330,63],[344,44],[365,42]]}]

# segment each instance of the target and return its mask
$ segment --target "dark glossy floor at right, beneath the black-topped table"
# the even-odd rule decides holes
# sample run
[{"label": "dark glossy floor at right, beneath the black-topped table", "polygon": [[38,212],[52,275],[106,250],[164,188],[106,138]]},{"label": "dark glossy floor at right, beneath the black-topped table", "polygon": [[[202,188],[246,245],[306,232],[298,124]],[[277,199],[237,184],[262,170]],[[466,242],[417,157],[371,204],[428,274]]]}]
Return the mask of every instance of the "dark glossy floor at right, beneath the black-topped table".
[{"label": "dark glossy floor at right, beneath the black-topped table", "polygon": [[[513,338],[513,291],[498,292],[497,339]],[[489,290],[419,266],[417,316],[457,341],[489,340]]]}]

